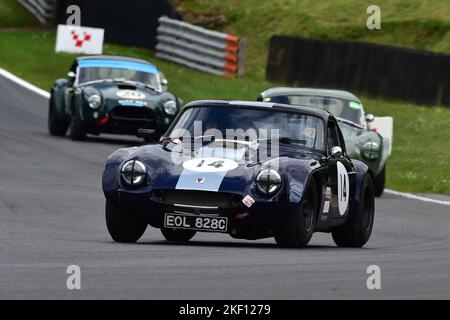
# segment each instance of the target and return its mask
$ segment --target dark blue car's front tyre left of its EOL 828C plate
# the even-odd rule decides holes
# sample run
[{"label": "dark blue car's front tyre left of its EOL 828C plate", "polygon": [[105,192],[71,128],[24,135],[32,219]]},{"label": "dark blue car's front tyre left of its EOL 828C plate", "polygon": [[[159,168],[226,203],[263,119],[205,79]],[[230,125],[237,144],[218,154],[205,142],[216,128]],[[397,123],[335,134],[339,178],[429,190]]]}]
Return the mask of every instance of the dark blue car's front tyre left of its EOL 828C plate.
[{"label": "dark blue car's front tyre left of its EOL 828C plate", "polygon": [[147,222],[137,212],[126,210],[108,200],[105,213],[108,232],[116,242],[134,243],[147,229]]}]

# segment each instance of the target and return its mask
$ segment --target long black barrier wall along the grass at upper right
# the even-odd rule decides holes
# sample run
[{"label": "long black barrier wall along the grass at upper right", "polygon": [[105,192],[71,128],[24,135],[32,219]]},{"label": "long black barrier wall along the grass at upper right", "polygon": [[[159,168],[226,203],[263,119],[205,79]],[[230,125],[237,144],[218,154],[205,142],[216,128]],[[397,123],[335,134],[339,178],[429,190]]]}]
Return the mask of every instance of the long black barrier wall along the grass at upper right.
[{"label": "long black barrier wall along the grass at upper right", "polygon": [[450,56],[360,42],[274,36],[267,80],[450,106]]}]

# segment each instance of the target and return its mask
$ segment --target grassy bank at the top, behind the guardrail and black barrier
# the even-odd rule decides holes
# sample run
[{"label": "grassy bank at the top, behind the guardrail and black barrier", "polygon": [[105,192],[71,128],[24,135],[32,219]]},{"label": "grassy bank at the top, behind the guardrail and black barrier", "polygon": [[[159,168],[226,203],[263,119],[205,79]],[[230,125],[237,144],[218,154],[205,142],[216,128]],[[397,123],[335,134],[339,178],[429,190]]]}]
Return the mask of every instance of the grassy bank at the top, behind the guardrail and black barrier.
[{"label": "grassy bank at the top, behind the guardrail and black barrier", "polygon": [[[450,2],[442,0],[171,0],[185,20],[246,39],[249,73],[264,78],[269,39],[293,35],[450,53]],[[368,30],[376,4],[381,30]]]}]

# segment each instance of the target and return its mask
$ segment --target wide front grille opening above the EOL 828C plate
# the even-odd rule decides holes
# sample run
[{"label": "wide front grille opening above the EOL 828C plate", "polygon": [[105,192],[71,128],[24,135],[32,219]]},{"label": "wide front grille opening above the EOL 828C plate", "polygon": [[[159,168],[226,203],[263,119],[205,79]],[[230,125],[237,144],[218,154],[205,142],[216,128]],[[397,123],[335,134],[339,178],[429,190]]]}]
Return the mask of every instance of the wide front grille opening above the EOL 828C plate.
[{"label": "wide front grille opening above the EOL 828C plate", "polygon": [[242,203],[239,195],[210,191],[154,190],[152,198],[171,205],[192,207],[234,208]]}]

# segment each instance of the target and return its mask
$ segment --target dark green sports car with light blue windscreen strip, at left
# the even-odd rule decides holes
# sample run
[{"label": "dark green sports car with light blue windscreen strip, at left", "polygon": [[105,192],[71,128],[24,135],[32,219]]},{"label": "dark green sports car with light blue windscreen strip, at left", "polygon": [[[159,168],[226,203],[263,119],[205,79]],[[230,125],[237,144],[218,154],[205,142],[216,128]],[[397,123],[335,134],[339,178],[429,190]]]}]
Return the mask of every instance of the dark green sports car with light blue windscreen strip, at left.
[{"label": "dark green sports car with light blue windscreen strip, at left", "polygon": [[167,130],[182,101],[166,92],[158,68],[141,59],[83,56],[75,59],[66,79],[51,89],[48,129],[52,135],[83,140],[87,134],[137,135],[154,130],[157,140]]}]

